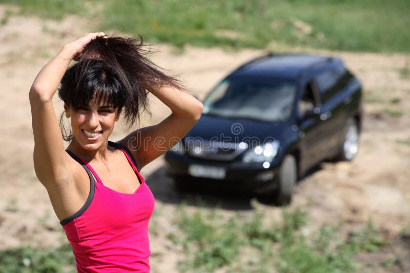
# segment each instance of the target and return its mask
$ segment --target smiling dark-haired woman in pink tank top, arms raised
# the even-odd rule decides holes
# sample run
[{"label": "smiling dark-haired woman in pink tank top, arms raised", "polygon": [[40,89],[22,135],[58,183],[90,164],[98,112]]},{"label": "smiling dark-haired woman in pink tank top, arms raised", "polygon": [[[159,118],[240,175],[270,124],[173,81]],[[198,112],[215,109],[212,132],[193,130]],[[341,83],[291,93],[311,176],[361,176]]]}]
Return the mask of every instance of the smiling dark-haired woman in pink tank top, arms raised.
[{"label": "smiling dark-haired woman in pink tank top, arms raised", "polygon": [[[154,199],[138,170],[175,145],[202,112],[202,104],[141,47],[131,38],[86,34],[66,44],[30,89],[35,172],[80,272],[149,271]],[[52,103],[57,89],[71,120],[72,132],[63,137]],[[171,115],[110,142],[120,115],[132,125],[147,109],[147,90]],[[63,138],[70,141],[67,150]]]}]

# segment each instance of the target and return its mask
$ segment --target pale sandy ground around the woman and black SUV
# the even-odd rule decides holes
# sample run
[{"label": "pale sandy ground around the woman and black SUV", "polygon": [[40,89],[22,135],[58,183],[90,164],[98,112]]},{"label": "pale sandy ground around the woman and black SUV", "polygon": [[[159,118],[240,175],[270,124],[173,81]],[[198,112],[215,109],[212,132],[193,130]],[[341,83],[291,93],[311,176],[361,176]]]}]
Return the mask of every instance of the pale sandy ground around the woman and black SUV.
[{"label": "pale sandy ground around the woman and black SUV", "polygon": [[[0,5],[0,18],[6,6]],[[20,245],[55,247],[66,242],[63,229],[51,208],[45,188],[38,182],[32,162],[28,90],[41,67],[64,43],[88,32],[90,22],[75,17],[63,21],[40,20],[13,15],[0,25],[0,248]],[[72,26],[76,26],[73,29]],[[311,52],[343,58],[363,83],[365,117],[360,150],[353,163],[326,162],[300,181],[291,207],[302,206],[309,213],[310,229],[329,222],[345,222],[345,229],[362,226],[371,217],[393,244],[382,257],[401,257],[393,269],[410,271],[410,245],[399,234],[410,225],[410,76],[403,67],[409,55],[324,52],[313,49],[288,49],[272,44],[276,51]],[[183,54],[166,45],[155,45],[159,52],[154,62],[180,75],[198,98],[240,63],[263,54],[262,51],[225,52],[220,49],[187,47]],[[399,100],[394,100],[398,98]],[[392,101],[393,100],[393,101]],[[62,104],[54,98],[56,112]],[[152,116],[138,126],[155,124],[169,109],[152,98]],[[395,116],[392,112],[402,115]],[[127,133],[117,126],[112,140]],[[142,170],[156,197],[156,215],[151,222],[151,264],[153,272],[176,269],[178,253],[166,234],[172,229],[173,214],[183,200],[195,194],[177,192],[158,158]],[[251,198],[207,194],[201,196],[208,207],[218,205],[223,213],[252,212]],[[280,209],[257,202],[269,214]],[[195,202],[189,202],[195,210]],[[379,256],[364,255],[363,261],[376,262]],[[386,269],[387,270],[387,269]],[[380,272],[384,272],[380,268]],[[387,271],[386,271],[387,272]]]}]

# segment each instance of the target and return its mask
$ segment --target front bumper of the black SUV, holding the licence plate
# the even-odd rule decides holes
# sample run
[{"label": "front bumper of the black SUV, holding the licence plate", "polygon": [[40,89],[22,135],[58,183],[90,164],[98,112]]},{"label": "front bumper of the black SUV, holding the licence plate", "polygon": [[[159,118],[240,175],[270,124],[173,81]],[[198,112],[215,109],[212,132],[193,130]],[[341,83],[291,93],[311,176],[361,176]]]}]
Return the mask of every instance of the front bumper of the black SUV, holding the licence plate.
[{"label": "front bumper of the black SUV, holding the licence plate", "polygon": [[262,163],[220,162],[193,158],[168,152],[165,169],[169,176],[189,180],[190,183],[212,183],[221,188],[271,193],[277,188],[278,164],[264,168]]}]

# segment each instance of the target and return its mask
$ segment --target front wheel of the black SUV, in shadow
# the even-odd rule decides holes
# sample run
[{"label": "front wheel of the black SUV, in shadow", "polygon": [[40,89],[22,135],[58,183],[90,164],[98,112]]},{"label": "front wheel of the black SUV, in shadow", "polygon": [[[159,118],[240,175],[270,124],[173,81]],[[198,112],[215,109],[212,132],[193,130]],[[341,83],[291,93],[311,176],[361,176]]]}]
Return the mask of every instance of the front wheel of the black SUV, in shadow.
[{"label": "front wheel of the black SUV, in shadow", "polygon": [[297,183],[297,166],[295,156],[286,154],[279,168],[278,189],[275,203],[279,206],[290,204],[293,190]]}]

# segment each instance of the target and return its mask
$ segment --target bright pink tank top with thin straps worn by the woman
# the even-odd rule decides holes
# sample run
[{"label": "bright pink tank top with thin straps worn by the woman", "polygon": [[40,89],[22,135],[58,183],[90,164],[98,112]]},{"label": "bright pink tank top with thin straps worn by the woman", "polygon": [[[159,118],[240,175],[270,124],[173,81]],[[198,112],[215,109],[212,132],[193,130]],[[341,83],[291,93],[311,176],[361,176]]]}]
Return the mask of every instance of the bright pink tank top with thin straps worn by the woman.
[{"label": "bright pink tank top with thin straps worn by the woman", "polygon": [[67,151],[86,169],[91,190],[84,206],[60,224],[73,248],[78,272],[149,272],[148,223],[154,196],[129,151],[114,142],[109,146],[125,154],[140,186],[132,194],[114,191],[104,186],[88,163]]}]

